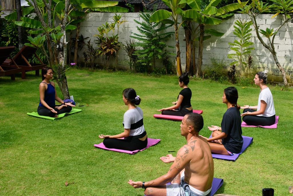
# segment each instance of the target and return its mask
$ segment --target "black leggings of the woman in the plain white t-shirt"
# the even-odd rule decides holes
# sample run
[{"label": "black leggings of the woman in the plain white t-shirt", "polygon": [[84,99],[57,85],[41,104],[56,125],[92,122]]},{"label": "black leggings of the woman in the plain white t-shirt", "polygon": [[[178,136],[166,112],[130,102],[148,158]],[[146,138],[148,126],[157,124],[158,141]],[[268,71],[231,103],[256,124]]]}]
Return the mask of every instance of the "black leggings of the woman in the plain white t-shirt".
[{"label": "black leggings of the woman in the plain white t-shirt", "polygon": [[[250,111],[254,112],[256,110],[254,109],[244,109],[243,113]],[[265,116],[256,116],[256,115],[246,115],[243,116],[242,120],[248,124],[248,125],[255,125],[255,126],[270,126],[275,124],[276,117],[270,116],[270,117],[265,117]]]}]

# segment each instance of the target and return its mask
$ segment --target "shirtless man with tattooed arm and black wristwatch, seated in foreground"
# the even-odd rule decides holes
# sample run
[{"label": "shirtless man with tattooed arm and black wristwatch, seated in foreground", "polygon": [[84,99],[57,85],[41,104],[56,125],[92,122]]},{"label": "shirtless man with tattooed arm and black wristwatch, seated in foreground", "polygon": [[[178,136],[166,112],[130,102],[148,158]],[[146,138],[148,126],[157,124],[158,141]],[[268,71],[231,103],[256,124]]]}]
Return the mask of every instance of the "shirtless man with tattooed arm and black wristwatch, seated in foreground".
[{"label": "shirtless man with tattooed arm and black wristwatch, seated in foreground", "polygon": [[[134,188],[145,188],[144,194],[147,196],[209,195],[214,178],[214,162],[207,140],[199,136],[202,127],[200,114],[186,114],[180,131],[187,144],[179,149],[176,157],[168,154],[160,158],[165,163],[173,162],[167,174],[148,182],[129,180],[128,183]],[[172,184],[166,185],[168,182]]]}]

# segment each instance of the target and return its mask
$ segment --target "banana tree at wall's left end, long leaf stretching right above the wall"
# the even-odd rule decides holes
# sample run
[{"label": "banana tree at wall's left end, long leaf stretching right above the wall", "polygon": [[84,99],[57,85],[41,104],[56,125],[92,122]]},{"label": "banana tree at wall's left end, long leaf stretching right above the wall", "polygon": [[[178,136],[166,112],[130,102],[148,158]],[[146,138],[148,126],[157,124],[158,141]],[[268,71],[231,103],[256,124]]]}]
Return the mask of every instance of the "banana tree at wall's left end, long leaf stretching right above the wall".
[{"label": "banana tree at wall's left end, long leaf stretching right above the wall", "polygon": [[[118,1],[71,0],[71,4],[72,9],[69,11],[69,16],[76,17],[76,20],[71,22],[72,25],[76,25],[73,62],[77,64],[77,49],[80,24],[82,21],[85,20],[84,17],[86,16],[86,13],[88,13],[89,10],[100,12],[128,12],[128,9],[116,6],[118,4]],[[70,48],[71,47],[69,47],[69,50]]]}]

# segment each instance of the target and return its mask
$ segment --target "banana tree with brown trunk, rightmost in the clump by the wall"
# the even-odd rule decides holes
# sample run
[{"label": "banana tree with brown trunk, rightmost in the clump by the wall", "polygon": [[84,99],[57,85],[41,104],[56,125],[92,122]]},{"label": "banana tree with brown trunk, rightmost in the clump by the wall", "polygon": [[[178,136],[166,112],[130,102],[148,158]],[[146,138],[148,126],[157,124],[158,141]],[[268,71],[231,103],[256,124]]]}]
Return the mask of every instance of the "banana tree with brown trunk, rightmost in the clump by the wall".
[{"label": "banana tree with brown trunk, rightmost in the clump by the wall", "polygon": [[[211,36],[221,37],[224,33],[216,31],[214,29],[206,29],[206,25],[218,25],[222,22],[223,18],[232,16],[233,13],[229,13],[240,8],[239,3],[229,4],[221,8],[216,8],[220,0],[211,0],[208,5],[200,6],[200,0],[181,0],[180,3],[187,3],[191,9],[183,11],[182,16],[185,20],[193,20],[198,23],[200,35],[196,40],[199,41],[198,58],[197,58],[197,71],[196,77],[201,76],[202,67],[202,51],[203,41],[211,38]],[[241,5],[245,5],[246,2],[242,2]],[[222,19],[221,19],[222,18]],[[205,36],[205,34],[210,34]]]}]

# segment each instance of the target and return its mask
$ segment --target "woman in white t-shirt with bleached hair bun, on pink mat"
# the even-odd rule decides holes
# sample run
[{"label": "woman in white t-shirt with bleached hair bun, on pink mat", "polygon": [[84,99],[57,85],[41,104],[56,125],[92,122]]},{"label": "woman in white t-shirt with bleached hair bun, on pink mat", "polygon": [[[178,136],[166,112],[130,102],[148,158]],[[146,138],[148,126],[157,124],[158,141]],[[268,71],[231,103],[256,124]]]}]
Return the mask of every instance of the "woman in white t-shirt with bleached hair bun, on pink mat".
[{"label": "woman in white t-shirt with bleached hair bun, on pink mat", "polygon": [[[254,83],[260,87],[260,94],[258,96],[258,105],[241,107],[243,113],[242,120],[248,125],[270,126],[275,124],[275,107],[272,93],[265,83],[267,82],[268,71],[257,72],[254,77]],[[257,109],[257,110],[255,110]]]}]

